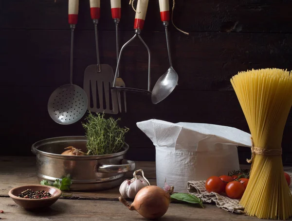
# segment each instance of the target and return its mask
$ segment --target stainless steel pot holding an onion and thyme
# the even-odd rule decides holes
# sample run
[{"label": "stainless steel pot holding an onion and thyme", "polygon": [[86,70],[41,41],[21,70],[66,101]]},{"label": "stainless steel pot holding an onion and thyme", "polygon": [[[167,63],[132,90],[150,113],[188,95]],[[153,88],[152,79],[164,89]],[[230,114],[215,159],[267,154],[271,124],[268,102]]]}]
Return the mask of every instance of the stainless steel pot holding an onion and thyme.
[{"label": "stainless steel pot holding an onion and thyme", "polygon": [[61,155],[64,148],[73,146],[86,152],[84,136],[61,136],[37,141],[32,152],[37,155],[38,180],[54,182],[70,176],[70,190],[104,190],[119,186],[125,172],[135,169],[135,162],[125,160],[129,146],[118,153],[96,156]]}]

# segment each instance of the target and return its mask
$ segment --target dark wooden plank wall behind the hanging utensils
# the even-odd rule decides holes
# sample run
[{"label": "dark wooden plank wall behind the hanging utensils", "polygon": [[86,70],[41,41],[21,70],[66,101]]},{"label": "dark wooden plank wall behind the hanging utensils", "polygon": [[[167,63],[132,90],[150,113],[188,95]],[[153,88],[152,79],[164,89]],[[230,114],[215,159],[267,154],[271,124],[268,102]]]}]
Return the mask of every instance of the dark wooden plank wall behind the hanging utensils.
[{"label": "dark wooden plank wall behind the hanging utensils", "polygon": [[[172,0],[170,6],[172,6]],[[249,132],[230,84],[240,70],[292,69],[292,0],[176,0],[169,26],[173,66],[179,85],[163,102],[127,95],[128,112],[112,115],[130,128],[128,158],[155,160],[152,142],[136,122],[162,119],[237,127]],[[68,0],[0,0],[1,155],[31,155],[31,145],[54,136],[84,135],[81,122],[59,125],[48,115],[56,87],[69,83]],[[133,36],[135,12],[122,0],[120,45]],[[101,62],[116,67],[115,25],[110,0],[101,0]],[[149,0],[141,34],[152,52],[151,89],[169,67],[158,0]],[[84,70],[95,64],[89,0],[80,0],[74,36],[73,83],[83,85]],[[135,40],[124,52],[121,74],[128,86],[146,88],[147,54]],[[283,137],[283,162],[292,166],[292,115]],[[240,163],[250,156],[238,148]]]}]

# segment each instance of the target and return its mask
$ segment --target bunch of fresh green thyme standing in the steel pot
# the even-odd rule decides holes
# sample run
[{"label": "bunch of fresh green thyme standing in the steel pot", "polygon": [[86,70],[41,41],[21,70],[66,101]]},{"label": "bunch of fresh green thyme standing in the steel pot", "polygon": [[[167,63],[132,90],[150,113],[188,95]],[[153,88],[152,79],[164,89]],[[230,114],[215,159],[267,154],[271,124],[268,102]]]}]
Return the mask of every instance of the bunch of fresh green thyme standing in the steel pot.
[{"label": "bunch of fresh green thyme standing in the steel pot", "polygon": [[96,116],[89,112],[85,118],[86,123],[82,123],[85,128],[87,138],[87,151],[89,155],[104,155],[117,153],[125,145],[125,134],[128,128],[121,128],[117,121],[120,120],[104,118],[104,114],[96,113]]}]

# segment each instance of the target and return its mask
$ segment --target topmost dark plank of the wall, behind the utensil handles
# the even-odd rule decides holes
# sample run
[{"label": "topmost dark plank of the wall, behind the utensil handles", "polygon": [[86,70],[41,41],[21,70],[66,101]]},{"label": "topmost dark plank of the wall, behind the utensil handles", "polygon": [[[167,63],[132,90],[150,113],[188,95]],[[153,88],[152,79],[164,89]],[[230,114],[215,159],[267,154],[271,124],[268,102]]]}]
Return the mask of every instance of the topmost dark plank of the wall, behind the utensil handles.
[{"label": "topmost dark plank of the wall, behind the utensil handles", "polygon": [[[169,2],[171,8],[172,0]],[[121,30],[133,29],[135,12],[128,3],[129,0],[122,0]],[[173,20],[179,28],[189,32],[291,33],[291,7],[291,0],[178,0]],[[2,0],[0,28],[66,29],[67,13],[68,1],[65,0]],[[98,28],[114,30],[109,0],[101,0]],[[89,1],[79,2],[77,29],[93,29]],[[144,29],[164,31],[158,1],[149,1]],[[169,29],[178,32],[171,24]]]}]

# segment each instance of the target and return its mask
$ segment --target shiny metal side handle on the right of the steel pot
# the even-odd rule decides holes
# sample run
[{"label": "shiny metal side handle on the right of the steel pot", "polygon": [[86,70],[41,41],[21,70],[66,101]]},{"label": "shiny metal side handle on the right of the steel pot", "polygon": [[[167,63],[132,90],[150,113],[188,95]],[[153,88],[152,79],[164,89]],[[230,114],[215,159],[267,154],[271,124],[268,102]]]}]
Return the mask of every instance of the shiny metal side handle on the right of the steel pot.
[{"label": "shiny metal side handle on the right of the steel pot", "polygon": [[135,170],[135,162],[132,160],[125,160],[127,164],[120,165],[95,165],[93,168],[94,172],[105,172],[105,173],[122,173]]}]

